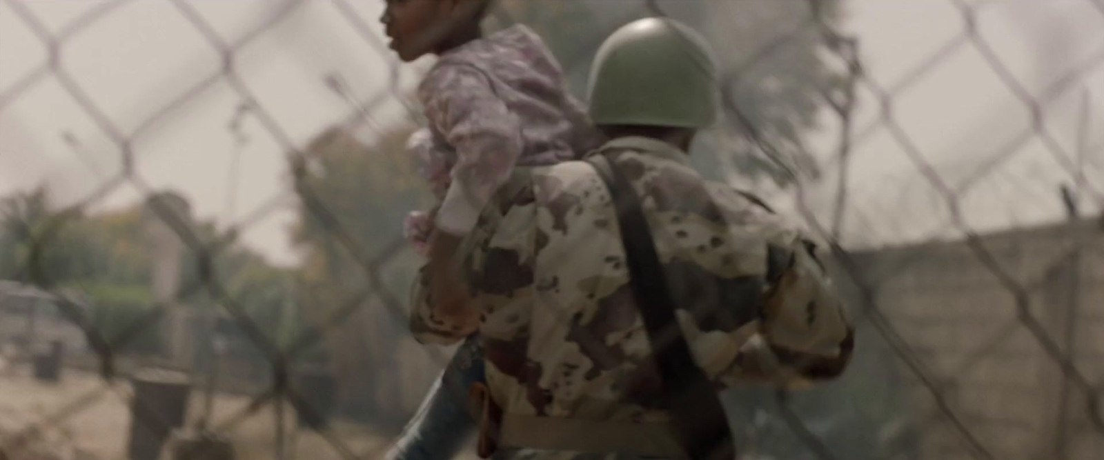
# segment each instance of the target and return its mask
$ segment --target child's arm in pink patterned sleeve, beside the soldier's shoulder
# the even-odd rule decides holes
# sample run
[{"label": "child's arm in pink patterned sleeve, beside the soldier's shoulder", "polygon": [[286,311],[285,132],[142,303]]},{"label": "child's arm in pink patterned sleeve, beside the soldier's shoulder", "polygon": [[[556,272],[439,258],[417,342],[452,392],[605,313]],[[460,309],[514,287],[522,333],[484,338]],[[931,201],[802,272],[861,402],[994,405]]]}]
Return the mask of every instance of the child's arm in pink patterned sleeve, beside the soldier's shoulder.
[{"label": "child's arm in pink patterned sleeve, beside the soldier's shoulder", "polygon": [[457,153],[435,220],[453,235],[475,227],[521,156],[521,126],[491,85],[475,66],[453,64],[435,69],[420,88],[427,118]]}]

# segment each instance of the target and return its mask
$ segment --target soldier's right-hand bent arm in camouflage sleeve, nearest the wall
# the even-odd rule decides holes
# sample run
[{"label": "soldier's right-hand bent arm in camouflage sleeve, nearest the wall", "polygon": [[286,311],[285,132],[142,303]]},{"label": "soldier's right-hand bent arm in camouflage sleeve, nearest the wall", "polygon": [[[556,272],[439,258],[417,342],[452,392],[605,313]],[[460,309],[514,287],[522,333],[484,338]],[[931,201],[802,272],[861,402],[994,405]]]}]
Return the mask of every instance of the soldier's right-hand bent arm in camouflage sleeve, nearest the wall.
[{"label": "soldier's right-hand bent arm in camouflage sleeve, nearest the wall", "polygon": [[[793,386],[841,374],[851,359],[853,329],[816,245],[758,197],[726,184],[708,186],[730,225],[744,227],[739,233],[747,244],[765,250],[749,250],[755,255],[743,261],[762,276],[762,284],[732,306],[739,329],[703,344],[700,364],[718,376],[721,387],[751,382]],[[745,310],[747,306],[754,310]]]}]

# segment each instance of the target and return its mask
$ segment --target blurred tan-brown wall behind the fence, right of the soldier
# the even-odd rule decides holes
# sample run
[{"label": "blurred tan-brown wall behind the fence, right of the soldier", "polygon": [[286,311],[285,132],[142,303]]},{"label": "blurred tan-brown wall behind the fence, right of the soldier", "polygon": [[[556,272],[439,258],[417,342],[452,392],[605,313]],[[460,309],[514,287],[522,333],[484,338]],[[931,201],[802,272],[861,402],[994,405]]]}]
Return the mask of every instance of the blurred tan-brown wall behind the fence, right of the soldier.
[{"label": "blurred tan-brown wall behind the fence, right of the soldier", "polygon": [[1085,392],[1104,386],[1102,224],[854,254],[837,276],[874,308],[860,340],[899,345],[922,459],[1104,458]]}]

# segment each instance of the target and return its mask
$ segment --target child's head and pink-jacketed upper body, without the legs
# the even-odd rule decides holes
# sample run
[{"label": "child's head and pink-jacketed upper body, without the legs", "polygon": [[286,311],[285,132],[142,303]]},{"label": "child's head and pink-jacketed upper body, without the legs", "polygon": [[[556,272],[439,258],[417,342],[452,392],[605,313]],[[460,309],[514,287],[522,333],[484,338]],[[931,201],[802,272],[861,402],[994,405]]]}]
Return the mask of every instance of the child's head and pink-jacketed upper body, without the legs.
[{"label": "child's head and pink-jacketed upper body, without the legs", "polygon": [[381,19],[403,61],[440,56],[417,92],[429,121],[421,142],[434,159],[433,185],[445,190],[433,226],[454,236],[471,231],[514,167],[554,164],[598,143],[537,34],[517,25],[481,36],[489,7],[489,0],[389,0]]}]

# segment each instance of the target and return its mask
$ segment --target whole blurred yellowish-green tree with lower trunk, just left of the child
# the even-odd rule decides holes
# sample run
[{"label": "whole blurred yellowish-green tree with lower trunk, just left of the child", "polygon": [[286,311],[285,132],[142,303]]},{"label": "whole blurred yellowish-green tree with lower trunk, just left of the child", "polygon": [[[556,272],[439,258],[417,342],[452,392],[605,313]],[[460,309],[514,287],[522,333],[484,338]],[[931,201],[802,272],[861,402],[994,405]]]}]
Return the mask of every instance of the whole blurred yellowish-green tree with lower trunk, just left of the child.
[{"label": "whole blurred yellowish-green tree with lower trunk, just left of the child", "polygon": [[[300,204],[291,234],[305,255],[299,302],[309,306],[307,319],[325,338],[341,406],[351,416],[407,415],[397,404],[395,356],[397,343],[407,338],[400,332],[406,323],[378,293],[354,299],[369,286],[371,259],[395,244],[405,245],[401,229],[406,213],[431,203],[405,150],[413,130],[395,126],[367,143],[348,128],[333,128],[293,164]],[[416,264],[408,253],[389,264],[382,274],[385,288],[405,293]]]}]

